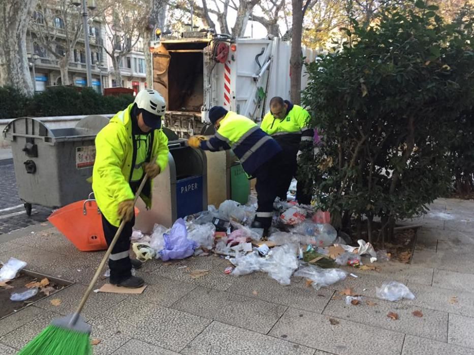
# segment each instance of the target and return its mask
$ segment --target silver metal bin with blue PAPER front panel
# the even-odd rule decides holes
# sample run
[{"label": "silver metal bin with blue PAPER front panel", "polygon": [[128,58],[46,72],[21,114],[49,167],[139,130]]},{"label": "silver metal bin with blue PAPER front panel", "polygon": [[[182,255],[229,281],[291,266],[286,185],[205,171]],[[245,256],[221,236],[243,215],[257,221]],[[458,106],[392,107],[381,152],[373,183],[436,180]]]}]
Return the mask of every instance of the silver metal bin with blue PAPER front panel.
[{"label": "silver metal bin with blue PAPER front panel", "polygon": [[207,210],[206,156],[197,149],[185,146],[185,140],[168,143],[168,166],[153,180],[153,200],[146,210],[139,199],[140,213],[135,228],[150,233],[155,223],[166,227],[180,217]]}]

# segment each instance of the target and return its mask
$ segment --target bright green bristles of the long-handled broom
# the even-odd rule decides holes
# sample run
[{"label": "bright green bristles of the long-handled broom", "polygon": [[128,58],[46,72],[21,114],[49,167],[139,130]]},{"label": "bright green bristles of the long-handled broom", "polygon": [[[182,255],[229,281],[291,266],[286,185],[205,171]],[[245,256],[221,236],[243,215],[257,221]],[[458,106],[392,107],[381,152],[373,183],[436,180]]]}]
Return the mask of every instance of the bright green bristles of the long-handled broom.
[{"label": "bright green bristles of the long-handled broom", "polygon": [[89,334],[49,325],[18,355],[90,355]]}]

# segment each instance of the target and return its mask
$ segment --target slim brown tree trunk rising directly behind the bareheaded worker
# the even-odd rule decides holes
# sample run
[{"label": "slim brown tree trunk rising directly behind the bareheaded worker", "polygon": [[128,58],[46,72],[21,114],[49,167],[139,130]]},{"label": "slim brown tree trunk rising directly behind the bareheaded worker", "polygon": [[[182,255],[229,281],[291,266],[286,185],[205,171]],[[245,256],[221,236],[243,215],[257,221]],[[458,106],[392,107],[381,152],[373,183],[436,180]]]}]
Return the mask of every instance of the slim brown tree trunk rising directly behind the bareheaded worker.
[{"label": "slim brown tree trunk rising directly behind the bareheaded worker", "polygon": [[290,97],[293,103],[301,102],[301,70],[303,58],[301,55],[301,36],[303,31],[303,0],[292,0],[292,40],[290,58]]}]

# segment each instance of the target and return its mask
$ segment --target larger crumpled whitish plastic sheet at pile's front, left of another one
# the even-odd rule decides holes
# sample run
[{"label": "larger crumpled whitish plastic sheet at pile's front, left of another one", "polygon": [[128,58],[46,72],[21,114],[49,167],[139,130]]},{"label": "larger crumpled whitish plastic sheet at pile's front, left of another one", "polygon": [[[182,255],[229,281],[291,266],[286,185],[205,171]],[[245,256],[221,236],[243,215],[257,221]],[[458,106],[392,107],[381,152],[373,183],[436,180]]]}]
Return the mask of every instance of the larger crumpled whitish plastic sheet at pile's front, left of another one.
[{"label": "larger crumpled whitish plastic sheet at pile's front, left of another one", "polygon": [[289,285],[293,272],[298,268],[296,248],[286,244],[274,247],[266,258],[261,258],[258,253],[247,255],[237,254],[231,262],[236,265],[232,275],[246,275],[254,271],[262,271],[278,281],[281,285]]}]

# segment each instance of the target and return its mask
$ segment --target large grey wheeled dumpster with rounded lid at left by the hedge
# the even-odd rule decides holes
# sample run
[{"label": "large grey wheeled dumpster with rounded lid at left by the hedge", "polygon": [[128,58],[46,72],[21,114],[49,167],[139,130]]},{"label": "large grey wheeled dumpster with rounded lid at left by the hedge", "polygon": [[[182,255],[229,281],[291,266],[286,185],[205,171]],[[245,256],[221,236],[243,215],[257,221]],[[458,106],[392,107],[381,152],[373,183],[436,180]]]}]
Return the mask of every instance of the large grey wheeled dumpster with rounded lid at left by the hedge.
[{"label": "large grey wheeled dumpster with rounded lid at left by the hedge", "polygon": [[109,122],[104,116],[87,116],[73,128],[49,129],[38,119],[10,122],[4,137],[11,141],[18,195],[28,215],[31,204],[57,208],[84,199],[92,190],[96,157],[94,139]]}]

